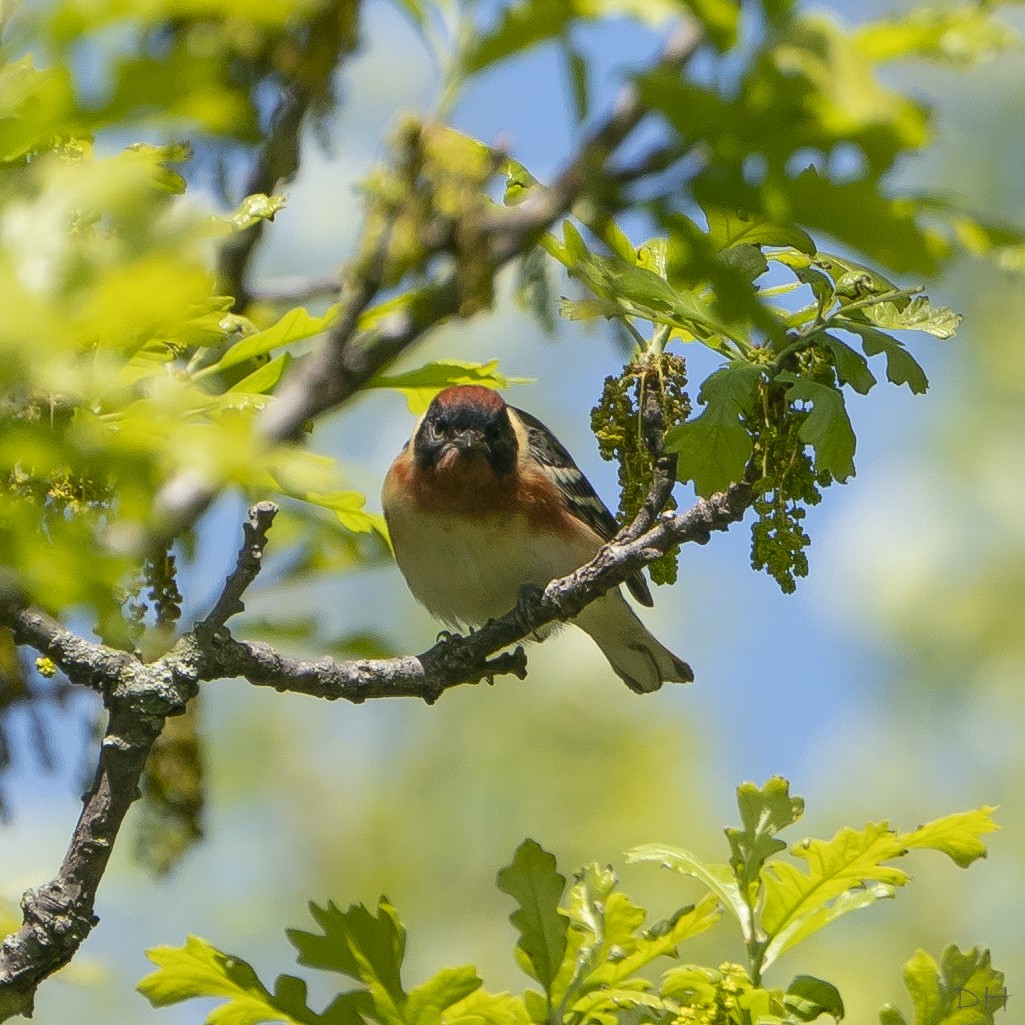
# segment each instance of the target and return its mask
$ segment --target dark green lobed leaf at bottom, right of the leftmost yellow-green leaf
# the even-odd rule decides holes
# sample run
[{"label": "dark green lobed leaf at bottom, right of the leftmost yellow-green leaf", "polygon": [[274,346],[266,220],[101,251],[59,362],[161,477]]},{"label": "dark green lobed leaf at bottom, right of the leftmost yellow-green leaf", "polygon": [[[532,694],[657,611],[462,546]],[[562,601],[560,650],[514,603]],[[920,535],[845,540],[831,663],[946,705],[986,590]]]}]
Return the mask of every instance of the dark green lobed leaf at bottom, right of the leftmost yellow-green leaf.
[{"label": "dark green lobed leaf at bottom, right of the leftmost yellow-green leaf", "polygon": [[406,995],[400,977],[406,931],[392,905],[382,897],[376,915],[363,904],[354,904],[347,911],[339,911],[330,901],[323,908],[312,902],[309,906],[323,932],[286,930],[299,952],[298,962],[362,982],[382,1025],[406,1025]]}]

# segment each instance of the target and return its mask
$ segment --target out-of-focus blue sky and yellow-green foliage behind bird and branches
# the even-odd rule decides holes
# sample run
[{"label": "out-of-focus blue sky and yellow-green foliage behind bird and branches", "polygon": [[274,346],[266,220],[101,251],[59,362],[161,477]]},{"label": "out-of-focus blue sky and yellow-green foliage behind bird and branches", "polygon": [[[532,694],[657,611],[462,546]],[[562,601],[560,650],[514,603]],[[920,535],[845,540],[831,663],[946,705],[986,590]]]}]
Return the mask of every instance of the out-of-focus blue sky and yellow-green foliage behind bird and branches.
[{"label": "out-of-focus blue sky and yellow-green foliage behind bird and branches", "polygon": [[[295,26],[316,19],[320,8],[301,0],[134,7],[64,0],[3,8],[5,56],[32,50],[36,66],[49,69],[31,86],[31,131],[47,119],[63,126],[72,118],[79,134],[93,137],[98,159],[84,183],[76,177],[69,184],[75,153],[64,164],[30,164],[5,183],[13,199],[6,197],[0,225],[0,380],[5,387],[20,380],[22,361],[32,363],[37,380],[49,366],[67,374],[66,361],[48,362],[52,339],[64,344],[68,332],[86,339],[97,324],[121,332],[115,352],[161,329],[160,317],[179,335],[220,331],[229,311],[211,304],[205,277],[218,252],[225,285],[240,286],[223,289],[241,297],[236,313],[257,328],[273,324],[276,294],[299,279],[330,278],[352,255],[361,219],[357,186],[403,112],[451,104],[455,127],[511,140],[518,159],[546,177],[577,137],[567,66],[586,61],[589,99],[601,109],[624,73],[658,45],[659,18],[638,15],[657,14],[661,5],[597,6],[611,16],[581,20],[561,41],[517,54],[457,94],[449,89],[451,69],[432,52],[446,32],[444,15],[425,40],[410,16],[419,9],[415,0],[353,0],[303,31]],[[500,7],[481,4],[480,16],[496,19]],[[815,8],[849,25],[894,10],[875,3]],[[1009,34],[1025,28],[1015,6],[1001,18]],[[16,69],[8,74],[0,101],[11,109],[24,102],[25,82]],[[967,71],[906,61],[884,75],[935,110],[938,142],[901,164],[901,188],[956,194],[994,221],[1025,219],[1020,47]],[[275,97],[253,84],[275,76],[293,82],[295,104],[310,117],[287,205],[263,233],[246,292],[233,281],[231,254],[248,243],[224,245],[246,211],[232,224],[212,223],[206,210],[230,219],[246,195],[272,193],[277,177],[293,170],[286,160],[269,172],[269,183],[252,177],[275,109]],[[173,147],[182,137],[193,142],[188,163],[179,163],[180,151],[122,152],[140,139]],[[5,123],[0,144],[4,160],[18,157],[16,119]],[[179,172],[189,192],[171,203]],[[153,175],[166,199],[149,188]],[[112,242],[45,251],[46,218],[69,216],[79,188],[104,210],[98,228],[83,232],[131,224],[136,250]],[[167,754],[177,752],[194,773],[202,767],[202,840],[183,853],[175,848],[200,820],[190,805],[198,797],[181,783],[189,773],[172,774],[182,792],[164,803],[161,821],[152,817],[159,803],[136,810],[130,825],[137,843],[121,845],[100,889],[101,925],[74,966],[42,987],[35,1020],[196,1021],[190,1006],[156,1012],[133,992],[148,969],[146,947],[195,932],[270,976],[289,960],[282,927],[305,925],[308,899],[371,902],[379,893],[409,928],[414,965],[471,960],[490,988],[514,986],[508,907],[493,878],[524,836],[556,851],[563,865],[622,866],[622,851],[648,840],[719,858],[720,829],[735,820],[736,783],[775,773],[808,798],[808,834],[881,818],[910,829],[955,809],[1001,806],[1003,829],[990,839],[988,862],[953,879],[939,859],[935,876],[926,863],[900,901],[817,938],[801,969],[840,986],[851,1020],[874,1019],[881,1002],[901,1000],[899,966],[914,948],[938,953],[948,942],[982,943],[1007,972],[1015,1014],[1017,981],[1025,978],[1025,362],[1017,330],[1025,289],[1017,270],[965,257],[929,282],[938,301],[965,313],[965,324],[954,342],[927,339],[916,348],[932,384],[925,398],[889,389],[852,404],[858,474],[810,512],[811,574],[796,594],[782,596],[750,571],[743,529],[684,552],[680,583],[657,593],[647,619],[695,666],[693,687],[638,700],[576,631],[533,650],[526,682],[465,688],[432,708],[343,707],[239,683],[207,686],[195,722],[199,746],[192,749],[197,735],[187,728]],[[603,378],[622,363],[621,342],[604,325],[573,322],[546,336],[514,291],[503,279],[493,313],[439,331],[417,358],[498,359],[509,376],[536,378],[517,385],[512,400],[556,430],[611,502],[615,470],[598,458],[587,411]],[[156,305],[126,301],[155,293]],[[322,314],[329,301],[312,301],[311,313]],[[140,317],[150,320],[140,326]],[[697,378],[707,357],[688,357]],[[104,403],[132,382],[83,359],[73,380],[49,383],[55,395],[93,396],[102,416]],[[238,415],[242,423],[245,409],[190,405],[196,398],[188,381],[172,381],[152,405],[127,415],[153,423],[187,410],[196,422]],[[49,418],[59,434],[59,408],[29,405],[17,415],[32,423]],[[322,466],[298,449],[263,454],[254,474],[242,425],[237,446],[218,451],[211,473],[250,494],[259,494],[266,473],[278,484],[287,478],[297,494],[344,487],[373,496],[410,424],[401,396],[373,392],[314,438],[317,451],[340,458],[343,482],[323,479]],[[67,448],[46,458],[54,466],[72,450],[74,459],[84,458],[88,429],[76,421],[60,435]],[[11,453],[24,458],[36,438],[7,429],[4,465],[16,461]],[[127,430],[125,438],[134,440],[115,450],[118,473],[137,482],[139,509],[166,475],[211,458],[189,430],[172,447],[148,446]],[[69,545],[86,544],[65,509],[101,496],[58,483],[49,529],[54,536],[68,531]],[[373,498],[370,505],[376,508]],[[244,497],[225,497],[193,532],[178,581],[184,622],[205,610],[233,564],[244,508]],[[415,608],[372,532],[341,534],[309,503],[290,510],[274,528],[268,573],[249,596],[246,636],[335,653],[415,651],[433,639],[436,624]],[[16,509],[5,515],[16,517]],[[5,533],[7,543],[16,536],[13,528]],[[78,575],[47,563],[45,550],[5,551],[5,562],[37,580],[55,605],[101,606],[127,565],[115,547],[97,559],[95,574]],[[12,652],[0,651],[0,659],[13,682],[0,692],[9,706],[0,778],[0,896],[9,905],[0,905],[0,916],[9,911],[13,920],[20,891],[48,878],[63,856],[92,758],[96,709],[88,695],[36,680]],[[621,875],[654,912],[684,886],[650,866]],[[701,937],[694,958],[737,957],[719,935]]]}]

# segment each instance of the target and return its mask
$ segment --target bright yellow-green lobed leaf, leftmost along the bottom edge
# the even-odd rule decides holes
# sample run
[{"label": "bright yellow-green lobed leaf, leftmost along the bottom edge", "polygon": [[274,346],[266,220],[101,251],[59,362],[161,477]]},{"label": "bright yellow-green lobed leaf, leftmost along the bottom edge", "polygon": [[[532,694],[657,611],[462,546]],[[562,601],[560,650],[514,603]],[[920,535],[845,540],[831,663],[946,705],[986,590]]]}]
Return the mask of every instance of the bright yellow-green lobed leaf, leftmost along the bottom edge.
[{"label": "bright yellow-green lobed leaf, leftmost along the bottom edge", "polygon": [[165,1008],[194,997],[222,997],[228,1000],[207,1017],[208,1025],[312,1025],[314,1016],[302,1003],[298,1017],[292,1011],[301,1003],[305,990],[291,980],[279,980],[279,992],[272,995],[252,968],[238,957],[221,953],[198,936],[186,938],[182,947],[154,947],[146,952],[157,971],[138,983],[138,991],[155,1007]]}]

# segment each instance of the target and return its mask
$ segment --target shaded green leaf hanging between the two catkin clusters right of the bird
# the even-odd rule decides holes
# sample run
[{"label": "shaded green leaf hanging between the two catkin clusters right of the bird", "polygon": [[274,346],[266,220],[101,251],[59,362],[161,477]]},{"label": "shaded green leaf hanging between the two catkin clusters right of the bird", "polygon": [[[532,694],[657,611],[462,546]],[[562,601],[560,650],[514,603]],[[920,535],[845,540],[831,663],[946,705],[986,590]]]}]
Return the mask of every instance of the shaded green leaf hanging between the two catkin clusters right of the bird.
[{"label": "shaded green leaf hanging between the two catkin clusters right of the bird", "polygon": [[704,498],[744,476],[751,439],[740,417],[750,410],[761,376],[753,364],[728,363],[701,385],[698,399],[705,404],[701,414],[666,435],[666,451],[679,456],[680,480],[693,481]]}]

